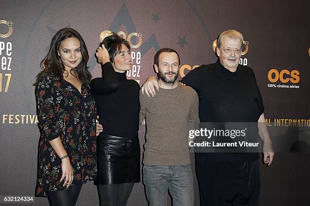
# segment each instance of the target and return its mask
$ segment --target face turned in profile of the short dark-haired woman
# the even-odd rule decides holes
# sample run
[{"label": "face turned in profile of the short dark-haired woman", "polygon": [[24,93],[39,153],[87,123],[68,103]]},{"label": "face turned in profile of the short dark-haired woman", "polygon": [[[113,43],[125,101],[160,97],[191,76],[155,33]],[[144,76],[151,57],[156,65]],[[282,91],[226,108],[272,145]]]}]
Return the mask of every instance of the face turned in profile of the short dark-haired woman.
[{"label": "face turned in profile of the short dark-haired woman", "polygon": [[114,57],[113,68],[115,72],[124,73],[131,70],[131,54],[130,49],[122,43],[122,49],[119,54]]}]

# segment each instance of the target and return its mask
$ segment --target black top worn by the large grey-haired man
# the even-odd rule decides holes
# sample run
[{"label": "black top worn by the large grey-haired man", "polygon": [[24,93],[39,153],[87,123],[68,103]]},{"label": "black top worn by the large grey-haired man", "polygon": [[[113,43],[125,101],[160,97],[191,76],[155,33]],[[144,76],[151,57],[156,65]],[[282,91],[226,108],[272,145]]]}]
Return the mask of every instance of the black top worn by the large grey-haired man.
[{"label": "black top worn by the large grey-haired man", "polygon": [[[264,111],[254,72],[248,66],[238,65],[236,72],[230,72],[218,60],[215,64],[202,65],[190,71],[181,82],[198,93],[202,125],[212,122],[241,122],[244,125],[257,123]],[[258,134],[258,128],[253,129],[251,134]],[[233,162],[259,159],[257,152],[209,152],[199,155],[207,159]]]}]

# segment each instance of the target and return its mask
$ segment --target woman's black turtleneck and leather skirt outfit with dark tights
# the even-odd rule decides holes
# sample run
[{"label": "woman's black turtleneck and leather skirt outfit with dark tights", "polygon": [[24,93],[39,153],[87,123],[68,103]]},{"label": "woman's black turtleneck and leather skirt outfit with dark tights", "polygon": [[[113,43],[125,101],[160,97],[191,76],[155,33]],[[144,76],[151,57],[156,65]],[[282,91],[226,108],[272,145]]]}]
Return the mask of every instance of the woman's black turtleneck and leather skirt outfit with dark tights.
[{"label": "woman's black turtleneck and leather skirt outfit with dark tights", "polygon": [[[103,125],[103,132],[97,137],[96,183],[103,205],[114,204],[107,204],[108,199],[103,198],[113,199],[115,192],[127,194],[126,204],[132,183],[140,182],[140,86],[135,80],[128,80],[126,72],[115,72],[110,62],[105,63],[102,69],[103,78],[91,81],[99,122]],[[115,189],[115,184],[123,186]],[[102,189],[102,185],[110,186]]]}]

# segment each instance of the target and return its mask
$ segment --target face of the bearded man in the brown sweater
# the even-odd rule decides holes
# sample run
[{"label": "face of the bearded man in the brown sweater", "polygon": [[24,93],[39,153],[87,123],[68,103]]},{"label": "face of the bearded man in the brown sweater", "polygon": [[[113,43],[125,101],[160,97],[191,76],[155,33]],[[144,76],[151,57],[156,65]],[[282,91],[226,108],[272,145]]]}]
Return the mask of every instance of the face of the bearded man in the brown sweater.
[{"label": "face of the bearded man in the brown sweater", "polygon": [[154,64],[160,81],[164,84],[174,84],[179,75],[179,58],[175,52],[162,52],[159,56],[159,65]]}]

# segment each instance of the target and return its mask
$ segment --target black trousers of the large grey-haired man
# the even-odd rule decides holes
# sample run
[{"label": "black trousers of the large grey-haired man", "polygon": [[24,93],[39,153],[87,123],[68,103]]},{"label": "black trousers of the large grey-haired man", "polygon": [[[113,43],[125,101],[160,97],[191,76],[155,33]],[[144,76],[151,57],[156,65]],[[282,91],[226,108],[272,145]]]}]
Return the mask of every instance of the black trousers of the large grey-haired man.
[{"label": "black trousers of the large grey-haired man", "polygon": [[196,156],[200,205],[258,206],[258,161],[217,161]]}]

